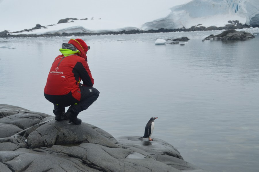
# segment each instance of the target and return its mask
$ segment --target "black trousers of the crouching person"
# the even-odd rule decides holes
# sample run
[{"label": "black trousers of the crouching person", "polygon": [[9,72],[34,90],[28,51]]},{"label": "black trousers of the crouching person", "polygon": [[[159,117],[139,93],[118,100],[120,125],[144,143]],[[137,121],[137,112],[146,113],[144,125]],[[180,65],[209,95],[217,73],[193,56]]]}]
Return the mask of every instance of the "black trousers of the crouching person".
[{"label": "black trousers of the crouching person", "polygon": [[73,98],[71,93],[67,95],[45,95],[45,98],[54,104],[54,114],[65,111],[66,106],[70,106],[67,111],[78,115],[79,112],[86,110],[99,97],[99,91],[94,87],[79,86],[81,91],[80,101]]}]

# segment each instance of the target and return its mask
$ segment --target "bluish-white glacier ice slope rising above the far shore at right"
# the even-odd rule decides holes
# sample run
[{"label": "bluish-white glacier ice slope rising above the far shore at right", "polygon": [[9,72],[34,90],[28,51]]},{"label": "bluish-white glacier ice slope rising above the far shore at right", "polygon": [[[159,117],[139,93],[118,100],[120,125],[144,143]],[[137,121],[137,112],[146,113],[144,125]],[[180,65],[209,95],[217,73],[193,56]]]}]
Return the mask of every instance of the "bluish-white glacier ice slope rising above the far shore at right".
[{"label": "bluish-white glacier ice slope rising above the far shore at right", "polygon": [[259,25],[258,0],[193,0],[171,8],[165,18],[142,25],[142,30],[159,28],[175,29],[202,26],[224,26],[229,20],[239,20],[242,24]]}]

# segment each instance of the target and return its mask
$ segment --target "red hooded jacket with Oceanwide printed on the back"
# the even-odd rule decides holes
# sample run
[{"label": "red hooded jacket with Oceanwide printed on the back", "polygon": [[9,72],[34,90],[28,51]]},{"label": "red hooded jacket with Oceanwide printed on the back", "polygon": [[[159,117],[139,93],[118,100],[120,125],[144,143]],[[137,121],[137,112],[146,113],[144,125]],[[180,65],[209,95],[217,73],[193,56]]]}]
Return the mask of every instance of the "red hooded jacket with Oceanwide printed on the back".
[{"label": "red hooded jacket with Oceanwide printed on the back", "polygon": [[94,79],[83,47],[74,39],[68,43],[72,43],[80,53],[71,56],[59,55],[55,58],[49,71],[44,93],[66,95],[71,91],[72,96],[79,101],[81,98],[79,82],[82,80],[84,86],[93,87]]}]

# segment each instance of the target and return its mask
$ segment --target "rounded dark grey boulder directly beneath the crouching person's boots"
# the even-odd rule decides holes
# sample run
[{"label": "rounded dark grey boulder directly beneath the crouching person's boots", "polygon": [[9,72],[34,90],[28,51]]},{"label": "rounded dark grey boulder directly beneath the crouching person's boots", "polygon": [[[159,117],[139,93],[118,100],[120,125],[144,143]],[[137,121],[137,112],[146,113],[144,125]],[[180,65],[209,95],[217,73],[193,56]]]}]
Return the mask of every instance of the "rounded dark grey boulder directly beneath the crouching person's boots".
[{"label": "rounded dark grey boulder directly beneath the crouching person's boots", "polygon": [[[37,140],[38,142],[35,142]],[[93,125],[73,125],[68,121],[49,121],[38,127],[27,137],[30,148],[50,147],[61,144],[80,144],[83,142],[101,144],[118,148],[117,140],[105,131]]]}]

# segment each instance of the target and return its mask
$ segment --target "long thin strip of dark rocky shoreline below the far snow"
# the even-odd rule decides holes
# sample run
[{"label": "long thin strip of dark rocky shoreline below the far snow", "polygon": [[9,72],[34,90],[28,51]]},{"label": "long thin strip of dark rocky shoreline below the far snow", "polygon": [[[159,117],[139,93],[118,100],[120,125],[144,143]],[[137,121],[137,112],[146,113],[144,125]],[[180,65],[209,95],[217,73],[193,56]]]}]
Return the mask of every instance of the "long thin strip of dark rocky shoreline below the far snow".
[{"label": "long thin strip of dark rocky shoreline below the far snow", "polygon": [[[19,34],[19,35],[11,35],[12,33],[9,33],[9,31],[4,30],[3,32],[0,32],[0,37],[1,38],[15,38],[15,37],[63,37],[63,36],[85,36],[85,35],[119,35],[119,34],[140,34],[140,33],[166,33],[166,32],[191,32],[191,31],[208,31],[208,30],[229,30],[229,29],[241,29],[241,28],[250,28],[252,26],[248,26],[245,24],[239,23],[239,21],[229,21],[229,23],[233,24],[226,24],[223,27],[216,27],[216,26],[210,26],[210,27],[204,27],[201,25],[197,26],[192,26],[191,28],[178,28],[178,29],[165,29],[165,28],[160,28],[158,30],[122,30],[119,32],[102,32],[102,33],[62,33],[62,34],[41,34],[41,35],[36,35],[36,34]],[[22,31],[30,31],[34,29],[39,29],[39,28],[46,28],[45,26],[41,26],[40,24],[36,24],[34,28],[31,29],[26,29]],[[253,26],[253,27],[259,27],[259,26]],[[17,31],[14,33],[19,33],[22,31]]]}]

